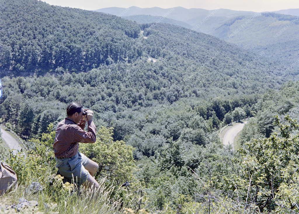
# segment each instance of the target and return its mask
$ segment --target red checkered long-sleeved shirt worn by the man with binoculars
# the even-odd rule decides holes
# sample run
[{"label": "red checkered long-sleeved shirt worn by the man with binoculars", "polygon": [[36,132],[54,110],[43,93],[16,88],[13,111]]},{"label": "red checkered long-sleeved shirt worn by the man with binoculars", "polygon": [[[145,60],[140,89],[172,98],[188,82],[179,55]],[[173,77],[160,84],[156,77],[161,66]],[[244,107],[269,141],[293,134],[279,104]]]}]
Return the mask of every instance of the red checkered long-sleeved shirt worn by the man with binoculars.
[{"label": "red checkered long-sleeved shirt worn by the man with binoculars", "polygon": [[66,117],[57,125],[54,140],[54,153],[57,158],[70,158],[77,154],[80,143],[94,143],[96,141],[96,127],[93,121],[88,121],[88,132],[84,131],[86,121],[76,124]]}]

